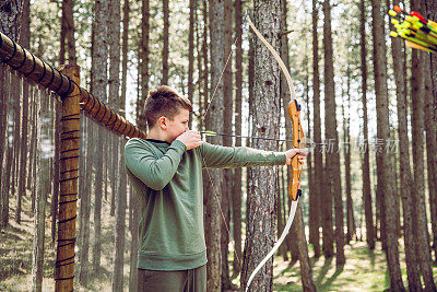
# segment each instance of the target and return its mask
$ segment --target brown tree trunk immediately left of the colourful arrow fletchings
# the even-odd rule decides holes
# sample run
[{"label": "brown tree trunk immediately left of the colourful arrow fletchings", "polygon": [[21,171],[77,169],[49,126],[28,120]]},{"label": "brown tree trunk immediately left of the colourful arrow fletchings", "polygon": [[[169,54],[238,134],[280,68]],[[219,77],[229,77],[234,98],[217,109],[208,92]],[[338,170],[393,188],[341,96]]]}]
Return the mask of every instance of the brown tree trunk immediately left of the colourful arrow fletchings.
[{"label": "brown tree trunk immediately left of the colourful arrow fletchings", "polygon": [[[390,141],[390,121],[387,89],[386,42],[383,17],[380,0],[371,0],[373,36],[374,36],[374,71],[377,109],[377,138]],[[382,153],[381,153],[382,152]],[[403,291],[401,269],[399,265],[398,236],[395,234],[395,202],[392,190],[391,160],[389,153],[377,151],[378,192],[383,194],[385,232],[387,236],[387,261],[390,287],[394,291]],[[381,209],[382,210],[382,209]]]}]

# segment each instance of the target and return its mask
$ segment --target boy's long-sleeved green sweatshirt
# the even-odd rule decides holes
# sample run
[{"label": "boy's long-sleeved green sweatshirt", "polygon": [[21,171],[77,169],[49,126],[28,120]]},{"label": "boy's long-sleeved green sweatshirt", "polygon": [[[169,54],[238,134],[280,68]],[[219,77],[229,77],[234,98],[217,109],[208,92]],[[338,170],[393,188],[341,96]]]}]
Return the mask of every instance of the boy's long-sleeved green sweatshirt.
[{"label": "boy's long-sleeved green sweatshirt", "polygon": [[203,143],[130,139],[125,147],[128,177],[139,198],[138,268],[187,270],[206,264],[202,168],[285,164],[285,154]]}]

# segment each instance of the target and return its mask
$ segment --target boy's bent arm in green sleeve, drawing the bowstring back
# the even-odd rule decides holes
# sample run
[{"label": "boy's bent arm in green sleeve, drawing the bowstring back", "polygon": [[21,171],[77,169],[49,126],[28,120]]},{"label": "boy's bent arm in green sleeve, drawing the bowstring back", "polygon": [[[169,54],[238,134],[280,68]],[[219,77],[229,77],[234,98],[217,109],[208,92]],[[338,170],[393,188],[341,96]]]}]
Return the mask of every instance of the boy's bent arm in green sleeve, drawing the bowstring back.
[{"label": "boy's bent arm in green sleeve, drawing the bowstring back", "polygon": [[131,139],[125,147],[125,164],[147,187],[161,190],[175,175],[186,145],[175,140],[161,159],[156,159],[147,144]]}]

